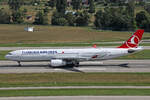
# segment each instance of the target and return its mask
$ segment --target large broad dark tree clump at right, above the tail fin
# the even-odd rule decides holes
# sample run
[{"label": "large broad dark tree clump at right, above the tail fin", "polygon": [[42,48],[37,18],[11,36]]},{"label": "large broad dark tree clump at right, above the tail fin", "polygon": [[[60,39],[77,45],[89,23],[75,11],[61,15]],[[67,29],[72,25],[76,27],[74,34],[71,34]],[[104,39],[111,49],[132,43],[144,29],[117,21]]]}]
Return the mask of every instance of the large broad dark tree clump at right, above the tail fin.
[{"label": "large broad dark tree clump at right, above the tail fin", "polygon": [[135,29],[132,18],[122,8],[105,8],[95,14],[95,26],[116,31]]}]

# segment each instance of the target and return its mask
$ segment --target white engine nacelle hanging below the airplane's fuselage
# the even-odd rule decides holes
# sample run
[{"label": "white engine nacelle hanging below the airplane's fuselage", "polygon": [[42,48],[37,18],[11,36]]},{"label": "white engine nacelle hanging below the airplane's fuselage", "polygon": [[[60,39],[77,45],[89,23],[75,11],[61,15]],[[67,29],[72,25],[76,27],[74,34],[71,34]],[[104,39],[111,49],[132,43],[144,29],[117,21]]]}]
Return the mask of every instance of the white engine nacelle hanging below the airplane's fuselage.
[{"label": "white engine nacelle hanging below the airplane's fuselage", "polygon": [[51,60],[51,66],[59,67],[59,66],[65,66],[65,65],[66,65],[66,61],[64,60],[61,60],[61,59]]}]

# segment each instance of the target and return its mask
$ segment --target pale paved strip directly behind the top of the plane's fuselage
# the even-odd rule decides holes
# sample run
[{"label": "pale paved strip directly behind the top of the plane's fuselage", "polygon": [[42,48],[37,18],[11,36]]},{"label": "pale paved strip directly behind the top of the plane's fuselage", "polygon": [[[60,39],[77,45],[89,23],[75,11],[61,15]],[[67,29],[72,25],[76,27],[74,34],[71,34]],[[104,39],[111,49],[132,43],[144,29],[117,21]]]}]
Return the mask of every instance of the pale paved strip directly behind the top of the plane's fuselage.
[{"label": "pale paved strip directly behind the top of the plane's fuselage", "polygon": [[[115,48],[116,46],[104,46],[103,48]],[[82,48],[92,48],[92,46],[87,47],[0,47],[0,51],[6,50],[23,50],[23,49],[82,49]],[[101,47],[100,47],[101,48]],[[144,49],[149,50],[150,46],[143,46]]]}]

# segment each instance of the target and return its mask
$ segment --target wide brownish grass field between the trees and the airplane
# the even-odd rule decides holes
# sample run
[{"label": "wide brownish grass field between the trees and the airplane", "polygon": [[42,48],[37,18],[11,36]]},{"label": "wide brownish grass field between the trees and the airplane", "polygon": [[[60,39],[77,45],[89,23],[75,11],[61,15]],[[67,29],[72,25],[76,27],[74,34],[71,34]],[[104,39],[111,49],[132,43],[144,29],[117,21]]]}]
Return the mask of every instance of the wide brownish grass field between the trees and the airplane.
[{"label": "wide brownish grass field between the trees and the airplane", "polygon": [[[125,41],[132,32],[103,31],[91,27],[61,27],[36,26],[34,32],[26,32],[26,25],[0,24],[0,44],[10,43],[76,43],[76,42],[102,42]],[[149,39],[150,34],[145,33],[143,39]]]}]

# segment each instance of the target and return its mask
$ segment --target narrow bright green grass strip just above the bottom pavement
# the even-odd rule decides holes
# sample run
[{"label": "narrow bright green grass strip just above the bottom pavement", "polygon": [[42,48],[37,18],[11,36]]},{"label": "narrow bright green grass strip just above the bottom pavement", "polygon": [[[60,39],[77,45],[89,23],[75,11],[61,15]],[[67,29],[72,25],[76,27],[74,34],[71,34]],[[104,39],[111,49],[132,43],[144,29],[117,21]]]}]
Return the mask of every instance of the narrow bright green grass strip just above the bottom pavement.
[{"label": "narrow bright green grass strip just above the bottom pavement", "polygon": [[0,97],[16,96],[150,96],[150,89],[39,89],[0,90]]}]

